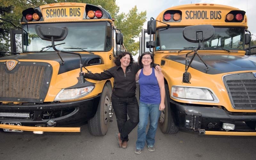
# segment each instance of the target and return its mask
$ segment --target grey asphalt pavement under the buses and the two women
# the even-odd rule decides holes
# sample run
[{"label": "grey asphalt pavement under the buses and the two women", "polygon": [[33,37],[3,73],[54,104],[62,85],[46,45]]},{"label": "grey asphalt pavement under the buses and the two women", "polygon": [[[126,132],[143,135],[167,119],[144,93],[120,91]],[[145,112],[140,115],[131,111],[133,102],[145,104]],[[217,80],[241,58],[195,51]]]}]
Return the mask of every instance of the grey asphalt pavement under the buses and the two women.
[{"label": "grey asphalt pavement under the buses and the two women", "polygon": [[113,117],[105,136],[90,135],[87,124],[80,133],[44,134],[0,132],[0,160],[255,160],[254,136],[206,136],[179,131],[163,134],[158,128],[155,152],[145,146],[134,153],[137,127],[130,133],[127,149],[119,148]]}]

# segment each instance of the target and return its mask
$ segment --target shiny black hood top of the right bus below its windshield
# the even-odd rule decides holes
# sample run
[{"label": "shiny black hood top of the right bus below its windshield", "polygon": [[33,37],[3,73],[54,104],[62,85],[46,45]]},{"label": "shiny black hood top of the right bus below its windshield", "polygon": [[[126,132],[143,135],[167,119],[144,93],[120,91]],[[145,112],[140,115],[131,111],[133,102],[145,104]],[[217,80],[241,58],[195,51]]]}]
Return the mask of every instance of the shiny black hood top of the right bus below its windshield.
[{"label": "shiny black hood top of the right bus below its windshield", "polygon": [[[188,56],[190,62],[192,55]],[[255,56],[227,55],[227,54],[203,54],[199,53],[204,62],[209,66],[210,70],[205,71],[205,65],[200,61],[198,56],[195,56],[190,67],[207,74],[220,74],[236,71],[256,71]],[[166,55],[165,59],[170,59],[185,65],[186,55]],[[187,64],[189,65],[189,63]]]}]

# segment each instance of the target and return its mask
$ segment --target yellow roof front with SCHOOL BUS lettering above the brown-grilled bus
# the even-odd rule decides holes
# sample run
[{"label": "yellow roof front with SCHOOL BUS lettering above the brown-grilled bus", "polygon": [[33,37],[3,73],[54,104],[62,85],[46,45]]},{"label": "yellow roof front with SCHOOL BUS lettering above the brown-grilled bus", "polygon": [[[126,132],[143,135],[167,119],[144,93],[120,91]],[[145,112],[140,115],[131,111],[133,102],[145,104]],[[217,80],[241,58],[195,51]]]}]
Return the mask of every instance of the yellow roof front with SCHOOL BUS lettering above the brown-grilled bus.
[{"label": "yellow roof front with SCHOOL BUS lettering above the brown-grilled bus", "polygon": [[[92,18],[88,17],[88,12],[93,11],[95,16]],[[102,16],[99,18],[96,16],[96,11],[99,11]],[[26,18],[28,14],[33,15],[36,13],[39,15],[39,19],[32,20]],[[93,14],[93,13],[92,13]],[[22,11],[22,22],[67,22],[67,21],[99,21],[99,20],[110,20],[112,17],[107,10],[103,9],[101,6],[96,6],[86,3],[52,3],[45,4],[36,8],[28,8]]]}]

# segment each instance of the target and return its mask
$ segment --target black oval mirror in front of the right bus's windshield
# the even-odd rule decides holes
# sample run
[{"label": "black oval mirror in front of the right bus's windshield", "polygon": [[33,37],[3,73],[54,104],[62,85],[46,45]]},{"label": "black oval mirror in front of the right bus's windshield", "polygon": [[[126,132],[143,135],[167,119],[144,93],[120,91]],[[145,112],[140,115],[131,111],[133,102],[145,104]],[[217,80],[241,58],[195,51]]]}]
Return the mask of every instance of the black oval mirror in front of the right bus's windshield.
[{"label": "black oval mirror in front of the right bus's windshield", "polygon": [[183,37],[192,43],[208,41],[213,34],[214,28],[212,25],[192,25],[183,29]]}]

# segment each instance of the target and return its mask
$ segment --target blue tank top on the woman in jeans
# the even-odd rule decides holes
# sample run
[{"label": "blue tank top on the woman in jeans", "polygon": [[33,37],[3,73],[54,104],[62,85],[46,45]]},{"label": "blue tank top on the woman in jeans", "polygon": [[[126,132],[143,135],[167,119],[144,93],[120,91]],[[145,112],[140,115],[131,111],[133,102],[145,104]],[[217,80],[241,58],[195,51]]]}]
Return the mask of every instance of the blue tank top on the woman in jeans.
[{"label": "blue tank top on the woman in jeans", "polygon": [[160,104],[160,88],[156,79],[155,69],[152,67],[152,73],[148,76],[143,74],[143,68],[139,75],[140,101],[149,104]]}]

